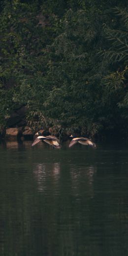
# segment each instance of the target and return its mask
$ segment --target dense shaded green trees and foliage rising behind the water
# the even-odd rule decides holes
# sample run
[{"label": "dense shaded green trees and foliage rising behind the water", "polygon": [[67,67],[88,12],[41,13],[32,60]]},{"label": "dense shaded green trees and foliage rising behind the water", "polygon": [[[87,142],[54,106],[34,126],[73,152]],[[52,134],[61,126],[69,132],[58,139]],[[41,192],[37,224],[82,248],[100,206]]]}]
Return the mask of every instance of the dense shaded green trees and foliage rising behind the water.
[{"label": "dense shaded green trees and foliage rising behind the water", "polygon": [[128,136],[127,0],[1,0],[0,63],[1,130]]}]

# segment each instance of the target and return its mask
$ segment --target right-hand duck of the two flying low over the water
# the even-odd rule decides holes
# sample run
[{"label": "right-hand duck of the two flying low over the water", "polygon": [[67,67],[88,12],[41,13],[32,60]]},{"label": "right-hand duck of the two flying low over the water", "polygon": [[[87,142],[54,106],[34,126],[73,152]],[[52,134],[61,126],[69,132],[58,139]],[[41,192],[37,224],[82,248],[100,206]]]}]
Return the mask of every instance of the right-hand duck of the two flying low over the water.
[{"label": "right-hand duck of the two flying low over the water", "polygon": [[89,145],[89,146],[93,147],[94,149],[96,149],[96,144],[91,139],[88,139],[85,137],[76,137],[73,135],[71,135],[70,137],[72,137],[72,140],[69,143],[69,148],[71,148],[73,145],[75,145],[78,142],[82,145]]}]

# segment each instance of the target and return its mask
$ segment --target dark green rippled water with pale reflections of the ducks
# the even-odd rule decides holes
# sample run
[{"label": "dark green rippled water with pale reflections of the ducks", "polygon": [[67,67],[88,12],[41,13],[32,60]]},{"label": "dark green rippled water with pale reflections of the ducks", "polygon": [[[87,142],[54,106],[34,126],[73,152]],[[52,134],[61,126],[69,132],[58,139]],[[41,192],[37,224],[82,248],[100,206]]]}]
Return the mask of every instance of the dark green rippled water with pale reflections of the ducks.
[{"label": "dark green rippled water with pale reflections of the ducks", "polygon": [[127,256],[128,142],[0,144],[0,256]]}]

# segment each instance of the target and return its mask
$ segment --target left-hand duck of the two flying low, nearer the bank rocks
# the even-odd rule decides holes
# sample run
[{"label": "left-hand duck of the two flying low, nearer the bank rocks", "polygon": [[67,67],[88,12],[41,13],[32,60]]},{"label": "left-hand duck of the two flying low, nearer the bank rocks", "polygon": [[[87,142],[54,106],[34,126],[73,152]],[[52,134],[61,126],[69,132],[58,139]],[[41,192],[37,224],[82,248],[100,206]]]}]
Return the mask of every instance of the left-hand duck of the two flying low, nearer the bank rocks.
[{"label": "left-hand duck of the two flying low, nearer the bank rocks", "polygon": [[35,135],[36,134],[39,136],[33,141],[32,146],[43,140],[44,142],[48,143],[49,145],[52,145],[56,149],[61,148],[60,141],[57,137],[53,135],[44,136],[41,134],[41,132],[37,132],[35,133]]}]

